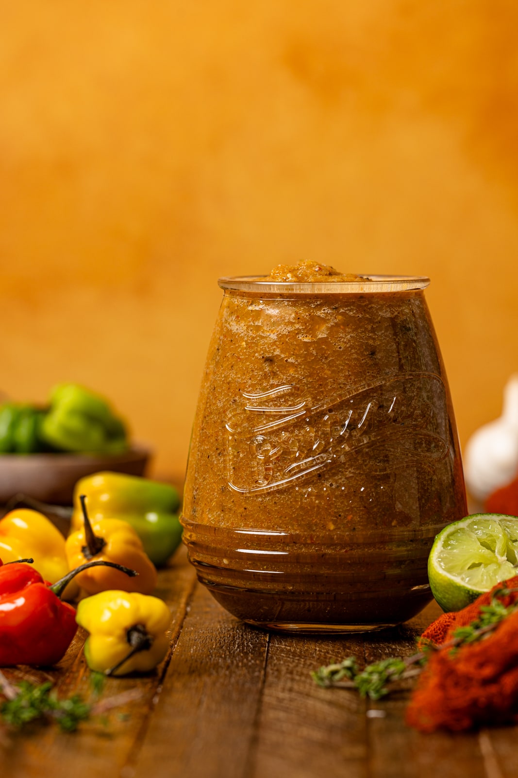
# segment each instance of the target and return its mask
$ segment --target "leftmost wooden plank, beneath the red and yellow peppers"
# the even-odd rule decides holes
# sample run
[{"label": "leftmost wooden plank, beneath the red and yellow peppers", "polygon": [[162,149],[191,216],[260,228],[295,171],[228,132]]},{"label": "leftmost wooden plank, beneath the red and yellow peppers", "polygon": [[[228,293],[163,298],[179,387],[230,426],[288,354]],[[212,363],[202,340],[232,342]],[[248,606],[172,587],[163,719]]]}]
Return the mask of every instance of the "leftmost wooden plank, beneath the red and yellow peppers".
[{"label": "leftmost wooden plank, beneath the red and yellow peppers", "polygon": [[[182,549],[172,560],[171,566],[160,571],[156,594],[163,598],[172,610],[170,630],[172,645],[176,643],[179,630],[189,604],[195,584],[195,573],[186,562]],[[30,668],[6,670],[5,675],[16,682],[28,677],[34,681],[53,678],[61,694],[81,693],[85,699],[95,697],[89,684],[89,670],[82,656],[85,633],[76,636],[60,666],[55,670],[40,671]],[[0,744],[2,766],[5,774],[12,778],[41,776],[43,769],[53,778],[96,778],[96,776],[119,775],[130,755],[138,748],[143,737],[152,701],[161,681],[161,674],[170,660],[166,657],[162,666],[153,674],[141,678],[107,678],[103,699],[127,689],[137,687],[141,698],[123,706],[110,715],[110,724],[92,723],[82,725],[74,735],[64,734],[57,727],[34,727],[32,731],[10,735]],[[122,720],[120,715],[129,716]],[[44,766],[44,768],[43,768]]]}]

